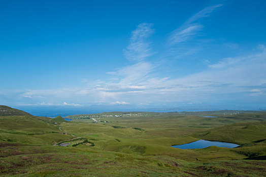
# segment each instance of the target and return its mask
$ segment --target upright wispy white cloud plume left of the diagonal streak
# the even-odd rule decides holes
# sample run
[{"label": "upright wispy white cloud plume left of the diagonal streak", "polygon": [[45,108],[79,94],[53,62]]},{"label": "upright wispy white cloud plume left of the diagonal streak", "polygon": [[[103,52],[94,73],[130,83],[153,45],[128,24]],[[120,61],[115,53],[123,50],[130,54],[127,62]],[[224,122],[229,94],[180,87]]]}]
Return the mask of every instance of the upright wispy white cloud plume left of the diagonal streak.
[{"label": "upright wispy white cloud plume left of the diagonal streak", "polygon": [[124,55],[128,60],[135,63],[118,68],[116,71],[107,72],[107,74],[114,76],[109,86],[116,92],[134,92],[134,89],[145,89],[145,86],[139,85],[139,83],[147,80],[150,77],[150,73],[156,68],[156,65],[146,61],[148,57],[153,55],[148,40],[154,32],[151,27],[152,24],[150,23],[141,23],[137,29],[131,32],[130,43],[124,50]]}]

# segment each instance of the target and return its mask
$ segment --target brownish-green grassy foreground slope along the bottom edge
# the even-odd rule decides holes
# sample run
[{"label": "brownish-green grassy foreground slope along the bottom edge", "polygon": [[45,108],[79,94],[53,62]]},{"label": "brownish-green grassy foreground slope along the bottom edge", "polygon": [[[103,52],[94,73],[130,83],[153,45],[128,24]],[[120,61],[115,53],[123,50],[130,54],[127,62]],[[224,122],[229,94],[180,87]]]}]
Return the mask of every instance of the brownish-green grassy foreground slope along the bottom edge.
[{"label": "brownish-green grassy foreground slope along the bottom edge", "polygon": [[[5,176],[263,176],[265,163],[256,160],[187,162],[170,156],[97,151],[92,148],[25,146],[0,143]],[[30,151],[28,150],[30,149]],[[250,167],[252,166],[252,167]]]}]

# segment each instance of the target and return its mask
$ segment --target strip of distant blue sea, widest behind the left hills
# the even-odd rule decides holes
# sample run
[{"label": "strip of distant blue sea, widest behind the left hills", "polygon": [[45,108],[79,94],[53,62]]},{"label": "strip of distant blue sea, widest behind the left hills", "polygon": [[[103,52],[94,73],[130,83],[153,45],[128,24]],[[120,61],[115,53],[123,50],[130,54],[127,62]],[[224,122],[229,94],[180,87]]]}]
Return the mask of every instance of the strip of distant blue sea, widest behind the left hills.
[{"label": "strip of distant blue sea, widest behind the left hills", "polygon": [[101,109],[91,109],[84,107],[30,107],[30,106],[20,106],[16,107],[17,109],[21,109],[25,112],[28,112],[35,116],[45,116],[45,117],[56,117],[56,116],[68,116],[75,114],[96,114],[102,112],[112,112],[112,111],[122,111],[122,112],[132,112],[132,111],[140,111],[140,112],[182,112],[182,111],[210,111],[210,110],[178,110],[178,109],[157,109],[157,108],[124,108],[124,109],[114,109],[114,108],[101,108]]}]

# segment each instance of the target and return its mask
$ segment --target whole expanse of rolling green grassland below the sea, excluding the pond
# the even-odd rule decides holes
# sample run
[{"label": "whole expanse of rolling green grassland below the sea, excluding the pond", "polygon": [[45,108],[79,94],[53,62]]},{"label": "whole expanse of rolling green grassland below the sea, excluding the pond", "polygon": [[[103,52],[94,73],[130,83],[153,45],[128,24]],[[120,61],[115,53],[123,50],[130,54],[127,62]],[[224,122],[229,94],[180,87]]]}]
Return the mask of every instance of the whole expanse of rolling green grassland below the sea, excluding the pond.
[{"label": "whole expanse of rolling green grassland below the sea, excluding the pond", "polygon": [[[266,176],[264,112],[112,112],[68,118],[73,121],[1,116],[1,175]],[[240,147],[171,147],[200,139]]]}]

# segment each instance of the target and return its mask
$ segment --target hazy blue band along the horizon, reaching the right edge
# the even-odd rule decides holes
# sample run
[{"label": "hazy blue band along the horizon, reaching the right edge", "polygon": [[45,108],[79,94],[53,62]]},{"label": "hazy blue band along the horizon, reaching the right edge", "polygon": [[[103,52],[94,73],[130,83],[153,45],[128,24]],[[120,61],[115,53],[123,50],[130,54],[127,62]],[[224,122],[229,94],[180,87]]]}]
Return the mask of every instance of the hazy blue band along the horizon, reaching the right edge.
[{"label": "hazy blue band along the horizon, reaching the right edge", "polygon": [[132,105],[92,105],[92,106],[16,106],[16,109],[23,110],[34,116],[69,116],[77,114],[98,114],[103,112],[201,112],[201,111],[265,111],[265,109],[226,109],[224,107],[135,107]]}]

